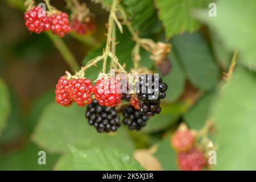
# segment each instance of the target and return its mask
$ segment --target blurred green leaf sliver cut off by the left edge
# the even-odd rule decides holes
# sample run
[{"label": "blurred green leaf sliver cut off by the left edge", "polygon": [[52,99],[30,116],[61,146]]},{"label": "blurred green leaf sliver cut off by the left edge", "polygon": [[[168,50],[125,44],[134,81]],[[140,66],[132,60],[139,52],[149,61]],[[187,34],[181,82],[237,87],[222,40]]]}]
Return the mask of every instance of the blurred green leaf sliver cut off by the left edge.
[{"label": "blurred green leaf sliver cut off by the left edge", "polygon": [[10,109],[9,92],[5,83],[0,79],[0,134],[6,126]]}]

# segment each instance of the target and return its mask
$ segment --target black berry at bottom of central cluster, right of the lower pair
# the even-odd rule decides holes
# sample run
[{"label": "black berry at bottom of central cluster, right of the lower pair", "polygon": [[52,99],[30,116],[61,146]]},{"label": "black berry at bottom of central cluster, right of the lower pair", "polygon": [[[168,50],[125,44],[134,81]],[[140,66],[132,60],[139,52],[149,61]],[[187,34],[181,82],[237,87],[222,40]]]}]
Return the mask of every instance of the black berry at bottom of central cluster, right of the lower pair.
[{"label": "black berry at bottom of central cluster, right of the lower pair", "polygon": [[133,106],[129,105],[122,109],[123,124],[128,125],[130,130],[141,130],[143,126],[146,126],[148,117],[141,114],[139,110],[134,109]]}]

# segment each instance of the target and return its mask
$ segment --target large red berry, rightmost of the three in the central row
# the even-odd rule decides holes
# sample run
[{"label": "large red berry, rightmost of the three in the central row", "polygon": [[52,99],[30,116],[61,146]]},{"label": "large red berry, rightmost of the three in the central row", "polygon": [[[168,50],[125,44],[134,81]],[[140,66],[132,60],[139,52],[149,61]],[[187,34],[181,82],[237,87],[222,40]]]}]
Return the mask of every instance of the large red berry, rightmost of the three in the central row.
[{"label": "large red berry, rightmost of the three in the central row", "polygon": [[117,106],[121,103],[122,94],[118,92],[118,80],[112,77],[100,78],[94,85],[94,96],[102,106]]}]

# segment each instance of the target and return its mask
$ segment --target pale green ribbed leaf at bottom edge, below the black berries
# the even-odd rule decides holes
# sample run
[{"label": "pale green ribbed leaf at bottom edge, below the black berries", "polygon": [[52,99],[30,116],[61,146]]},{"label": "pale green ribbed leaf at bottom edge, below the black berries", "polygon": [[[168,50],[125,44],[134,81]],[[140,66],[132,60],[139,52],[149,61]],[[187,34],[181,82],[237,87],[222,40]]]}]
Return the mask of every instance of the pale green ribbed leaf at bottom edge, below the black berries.
[{"label": "pale green ribbed leaf at bottom edge, below the black berries", "polygon": [[69,146],[76,170],[143,170],[143,167],[129,154],[116,148],[92,148],[79,150]]}]

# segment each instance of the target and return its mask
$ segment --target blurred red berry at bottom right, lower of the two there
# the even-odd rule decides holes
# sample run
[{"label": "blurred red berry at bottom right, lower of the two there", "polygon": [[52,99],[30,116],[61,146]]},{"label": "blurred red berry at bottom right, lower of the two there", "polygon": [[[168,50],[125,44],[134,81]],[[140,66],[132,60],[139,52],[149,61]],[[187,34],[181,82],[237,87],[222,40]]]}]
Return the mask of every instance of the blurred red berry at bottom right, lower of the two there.
[{"label": "blurred red berry at bottom right, lower of the two there", "polygon": [[179,168],[183,171],[200,171],[205,166],[207,160],[204,153],[197,148],[192,148],[188,152],[181,152],[177,156]]}]

